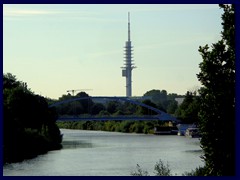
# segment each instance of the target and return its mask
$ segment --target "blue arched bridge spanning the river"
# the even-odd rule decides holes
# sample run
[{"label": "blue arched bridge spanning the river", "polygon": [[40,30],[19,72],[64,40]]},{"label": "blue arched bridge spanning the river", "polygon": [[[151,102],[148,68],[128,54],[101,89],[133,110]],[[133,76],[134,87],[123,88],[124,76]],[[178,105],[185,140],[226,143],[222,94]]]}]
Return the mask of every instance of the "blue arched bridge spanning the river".
[{"label": "blue arched bridge spanning the river", "polygon": [[[87,97],[74,97],[71,99],[55,102],[49,107],[59,107],[64,104],[72,103],[72,102],[81,102],[81,101],[88,102],[91,100],[96,100],[97,102],[107,102],[107,101],[114,101],[114,102],[127,102],[133,105],[137,105],[140,107],[144,107],[148,109],[151,112],[154,112],[154,115],[118,115],[118,116],[109,116],[109,115],[91,115],[91,114],[75,114],[75,115],[61,115],[58,117],[58,121],[86,121],[86,120],[92,120],[92,121],[109,121],[109,120],[161,120],[161,121],[173,121],[178,122],[179,120],[175,117],[171,116],[170,114],[167,114],[155,107],[149,106],[147,104],[144,104],[140,101],[134,100],[132,98],[128,97],[117,97],[117,96],[87,96]],[[88,103],[89,104],[89,103]],[[89,108],[89,107],[88,107]]]}]

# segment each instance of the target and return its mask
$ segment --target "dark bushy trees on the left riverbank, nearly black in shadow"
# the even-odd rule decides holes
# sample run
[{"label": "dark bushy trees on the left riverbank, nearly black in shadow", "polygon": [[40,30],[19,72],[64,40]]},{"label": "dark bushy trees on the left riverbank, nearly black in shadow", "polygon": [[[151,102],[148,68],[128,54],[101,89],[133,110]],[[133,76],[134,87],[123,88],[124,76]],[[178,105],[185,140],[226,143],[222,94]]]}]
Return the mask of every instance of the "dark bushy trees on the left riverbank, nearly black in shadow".
[{"label": "dark bushy trees on the left riverbank, nearly black in shadow", "polygon": [[47,100],[10,73],[3,75],[3,163],[61,149],[57,114]]}]

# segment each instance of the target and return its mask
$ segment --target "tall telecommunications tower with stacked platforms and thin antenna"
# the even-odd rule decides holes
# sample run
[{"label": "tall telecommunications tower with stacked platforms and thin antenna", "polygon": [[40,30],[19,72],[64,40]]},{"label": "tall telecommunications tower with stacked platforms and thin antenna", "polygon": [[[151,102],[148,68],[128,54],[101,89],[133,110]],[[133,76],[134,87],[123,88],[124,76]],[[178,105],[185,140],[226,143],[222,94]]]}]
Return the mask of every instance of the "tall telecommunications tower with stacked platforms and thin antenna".
[{"label": "tall telecommunications tower with stacked platforms and thin antenna", "polygon": [[132,96],[132,70],[136,68],[132,60],[132,46],[130,39],[130,13],[128,12],[128,40],[126,41],[125,47],[125,60],[124,67],[122,67],[122,76],[126,77],[126,96]]}]

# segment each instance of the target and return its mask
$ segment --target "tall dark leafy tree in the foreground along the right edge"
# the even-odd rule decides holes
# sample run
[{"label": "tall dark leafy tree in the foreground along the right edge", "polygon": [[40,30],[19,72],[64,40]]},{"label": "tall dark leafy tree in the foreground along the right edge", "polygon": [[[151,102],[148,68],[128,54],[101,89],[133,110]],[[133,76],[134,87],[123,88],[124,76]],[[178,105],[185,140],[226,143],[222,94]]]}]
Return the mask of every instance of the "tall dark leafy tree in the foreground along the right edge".
[{"label": "tall dark leafy tree in the foreground along the right edge", "polygon": [[199,47],[201,145],[207,175],[235,175],[234,5],[220,5],[223,31],[217,43]]}]

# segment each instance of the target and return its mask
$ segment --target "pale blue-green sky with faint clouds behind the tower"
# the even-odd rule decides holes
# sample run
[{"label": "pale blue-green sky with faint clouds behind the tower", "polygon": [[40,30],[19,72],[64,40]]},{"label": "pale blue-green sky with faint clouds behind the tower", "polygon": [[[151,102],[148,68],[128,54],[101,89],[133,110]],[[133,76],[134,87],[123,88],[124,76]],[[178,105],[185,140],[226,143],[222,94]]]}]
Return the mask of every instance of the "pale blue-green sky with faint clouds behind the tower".
[{"label": "pale blue-green sky with faint clouds behind the tower", "polygon": [[213,5],[3,5],[3,72],[37,94],[69,89],[124,96],[121,68],[131,13],[133,96],[151,89],[185,94],[200,87],[199,46],[220,39]]}]

